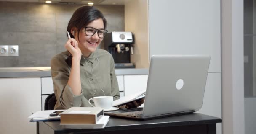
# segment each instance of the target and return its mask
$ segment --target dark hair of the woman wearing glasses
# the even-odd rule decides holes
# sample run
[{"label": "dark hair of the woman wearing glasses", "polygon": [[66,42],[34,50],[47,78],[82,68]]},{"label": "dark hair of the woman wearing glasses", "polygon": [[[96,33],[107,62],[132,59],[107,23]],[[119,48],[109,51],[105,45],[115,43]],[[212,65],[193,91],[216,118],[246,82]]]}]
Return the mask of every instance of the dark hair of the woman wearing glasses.
[{"label": "dark hair of the woman wearing glasses", "polygon": [[[83,28],[85,28],[85,26],[87,26],[89,23],[99,18],[103,20],[104,29],[105,29],[107,25],[107,21],[106,21],[106,18],[101,13],[101,11],[99,11],[97,8],[93,6],[83,6],[78,8],[73,13],[67,25],[67,31],[69,32],[70,37],[75,38],[71,34],[71,28],[76,27],[77,32],[80,33],[80,31]],[[79,34],[78,34],[78,40],[79,40]]]}]

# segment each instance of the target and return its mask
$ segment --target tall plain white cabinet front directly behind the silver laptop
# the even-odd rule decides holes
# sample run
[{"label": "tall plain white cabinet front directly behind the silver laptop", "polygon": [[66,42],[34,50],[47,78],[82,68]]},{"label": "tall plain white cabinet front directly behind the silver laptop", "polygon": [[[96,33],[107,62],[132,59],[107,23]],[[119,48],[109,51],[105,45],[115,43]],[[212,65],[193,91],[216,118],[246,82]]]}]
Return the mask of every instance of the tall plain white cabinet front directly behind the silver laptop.
[{"label": "tall plain white cabinet front directly behind the silver laptop", "polygon": [[[199,113],[221,118],[220,0],[149,0],[149,55],[209,54]],[[221,123],[217,124],[221,134]]]}]

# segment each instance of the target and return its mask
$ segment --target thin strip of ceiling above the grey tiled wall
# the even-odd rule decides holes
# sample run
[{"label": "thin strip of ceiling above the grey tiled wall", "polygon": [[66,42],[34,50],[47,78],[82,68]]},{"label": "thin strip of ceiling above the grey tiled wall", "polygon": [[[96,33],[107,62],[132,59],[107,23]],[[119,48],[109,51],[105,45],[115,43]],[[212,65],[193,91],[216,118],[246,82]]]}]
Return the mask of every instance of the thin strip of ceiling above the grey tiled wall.
[{"label": "thin strip of ceiling above the grey tiled wall", "polygon": [[[0,0],[5,2],[33,2],[44,3],[45,0]],[[51,0],[53,3],[78,3],[87,4],[93,2],[95,5],[125,5],[125,0]]]}]

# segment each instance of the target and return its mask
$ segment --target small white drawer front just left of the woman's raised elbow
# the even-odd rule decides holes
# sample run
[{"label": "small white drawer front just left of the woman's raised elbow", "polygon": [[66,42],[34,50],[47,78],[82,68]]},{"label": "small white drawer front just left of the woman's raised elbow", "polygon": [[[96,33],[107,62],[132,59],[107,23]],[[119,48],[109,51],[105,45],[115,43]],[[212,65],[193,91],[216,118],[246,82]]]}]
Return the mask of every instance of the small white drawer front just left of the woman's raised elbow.
[{"label": "small white drawer front just left of the woman's raised elbow", "polygon": [[42,77],[41,78],[42,82],[42,94],[51,94],[53,92],[53,80],[51,77]]}]

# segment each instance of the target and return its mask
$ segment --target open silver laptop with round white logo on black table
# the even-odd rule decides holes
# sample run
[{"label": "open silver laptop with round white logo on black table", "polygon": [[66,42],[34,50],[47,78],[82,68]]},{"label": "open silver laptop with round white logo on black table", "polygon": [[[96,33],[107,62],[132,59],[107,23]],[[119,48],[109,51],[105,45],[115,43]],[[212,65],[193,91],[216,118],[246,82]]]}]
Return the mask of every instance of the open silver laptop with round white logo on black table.
[{"label": "open silver laptop with round white logo on black table", "polygon": [[143,108],[105,114],[136,119],[193,113],[203,104],[210,56],[153,55]]}]

